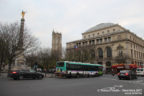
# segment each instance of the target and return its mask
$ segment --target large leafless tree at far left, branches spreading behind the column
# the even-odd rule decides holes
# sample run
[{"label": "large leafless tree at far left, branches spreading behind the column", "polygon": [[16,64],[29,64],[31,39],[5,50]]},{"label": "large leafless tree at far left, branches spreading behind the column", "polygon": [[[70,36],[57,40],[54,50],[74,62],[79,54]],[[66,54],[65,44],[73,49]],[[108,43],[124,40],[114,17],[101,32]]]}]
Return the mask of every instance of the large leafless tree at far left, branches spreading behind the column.
[{"label": "large leafless tree at far left, branches spreading behind the column", "polygon": [[[19,42],[19,33],[20,33],[20,25],[18,23],[12,24],[0,24],[0,35],[2,46],[4,48],[0,49],[0,52],[5,51],[5,56],[8,61],[9,70],[11,69],[11,64],[16,57],[16,51],[18,50],[18,42]],[[37,39],[28,33],[28,30],[25,28],[24,38],[23,38],[23,51],[30,52],[31,49],[36,47]],[[17,53],[20,54],[21,52]],[[2,54],[2,53],[1,53]],[[0,57],[1,59],[3,56]],[[3,59],[2,59],[3,60]]]}]

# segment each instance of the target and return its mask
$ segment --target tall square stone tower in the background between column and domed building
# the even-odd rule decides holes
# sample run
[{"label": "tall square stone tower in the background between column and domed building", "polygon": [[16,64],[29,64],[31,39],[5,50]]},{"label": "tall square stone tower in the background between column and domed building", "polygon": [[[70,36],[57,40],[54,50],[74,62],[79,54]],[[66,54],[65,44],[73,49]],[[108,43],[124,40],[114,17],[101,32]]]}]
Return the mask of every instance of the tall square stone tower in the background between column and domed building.
[{"label": "tall square stone tower in the background between column and domed building", "polygon": [[57,60],[62,57],[62,35],[54,31],[52,32],[52,55],[54,55]]}]

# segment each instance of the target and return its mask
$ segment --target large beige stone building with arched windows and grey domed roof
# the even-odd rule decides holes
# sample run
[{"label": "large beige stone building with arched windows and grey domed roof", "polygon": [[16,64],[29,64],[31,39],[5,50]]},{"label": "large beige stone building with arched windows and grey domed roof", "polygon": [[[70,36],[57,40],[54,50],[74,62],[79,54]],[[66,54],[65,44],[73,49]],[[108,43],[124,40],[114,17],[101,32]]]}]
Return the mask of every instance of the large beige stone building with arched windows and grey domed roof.
[{"label": "large beige stone building with arched windows and grey domed roof", "polygon": [[144,40],[118,24],[101,23],[82,33],[82,39],[67,43],[67,59],[103,64],[144,63]]}]

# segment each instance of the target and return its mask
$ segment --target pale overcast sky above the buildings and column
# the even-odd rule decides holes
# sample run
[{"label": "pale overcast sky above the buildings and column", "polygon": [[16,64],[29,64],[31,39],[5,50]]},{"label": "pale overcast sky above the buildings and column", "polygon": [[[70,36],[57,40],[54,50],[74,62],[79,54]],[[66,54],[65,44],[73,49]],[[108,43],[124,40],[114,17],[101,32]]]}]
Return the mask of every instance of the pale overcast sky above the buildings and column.
[{"label": "pale overcast sky above the buildings and column", "polygon": [[53,29],[66,46],[99,23],[120,24],[144,38],[144,0],[0,0],[0,22],[20,23],[22,10],[42,47],[51,47]]}]

